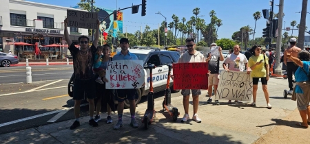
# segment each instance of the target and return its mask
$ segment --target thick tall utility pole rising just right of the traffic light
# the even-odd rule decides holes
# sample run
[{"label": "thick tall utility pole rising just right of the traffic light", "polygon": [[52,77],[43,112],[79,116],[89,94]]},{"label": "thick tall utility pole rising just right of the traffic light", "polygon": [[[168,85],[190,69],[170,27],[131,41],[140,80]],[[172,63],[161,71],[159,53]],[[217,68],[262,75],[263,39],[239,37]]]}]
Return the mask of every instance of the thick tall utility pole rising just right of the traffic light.
[{"label": "thick tall utility pole rising just right of the traffic light", "polygon": [[[280,54],[281,54],[281,42],[282,42],[282,21],[283,21],[283,5],[284,0],[279,1],[279,18],[278,18],[278,37],[277,37],[277,47],[276,47],[276,65],[274,73],[276,75],[282,75],[282,69],[280,68]],[[272,70],[271,70],[272,71]]]}]

